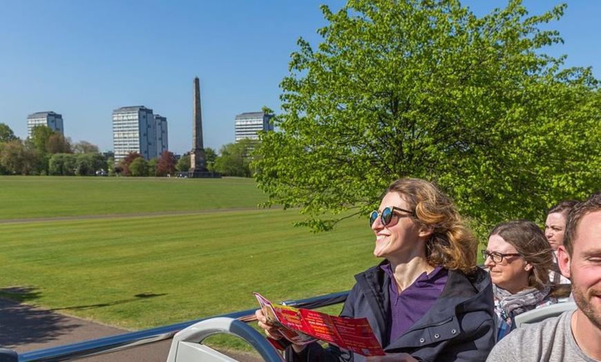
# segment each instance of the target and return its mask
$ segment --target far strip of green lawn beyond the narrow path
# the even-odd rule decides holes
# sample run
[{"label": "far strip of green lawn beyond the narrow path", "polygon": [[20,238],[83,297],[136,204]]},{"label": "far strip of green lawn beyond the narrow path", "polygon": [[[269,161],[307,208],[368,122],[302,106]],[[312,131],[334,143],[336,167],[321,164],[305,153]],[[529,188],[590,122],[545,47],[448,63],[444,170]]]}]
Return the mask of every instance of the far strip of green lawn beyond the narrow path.
[{"label": "far strip of green lawn beyond the narrow path", "polygon": [[0,220],[256,207],[249,178],[0,176]]}]

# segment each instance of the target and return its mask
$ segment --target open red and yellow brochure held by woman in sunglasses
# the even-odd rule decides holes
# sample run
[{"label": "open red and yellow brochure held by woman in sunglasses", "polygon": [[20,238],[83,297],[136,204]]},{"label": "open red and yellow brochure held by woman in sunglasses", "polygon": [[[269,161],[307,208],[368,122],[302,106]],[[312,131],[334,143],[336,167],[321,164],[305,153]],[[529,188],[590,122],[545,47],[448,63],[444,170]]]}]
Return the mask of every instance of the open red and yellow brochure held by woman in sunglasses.
[{"label": "open red and yellow brochure held by woman in sunglasses", "polygon": [[342,318],[312,309],[271,304],[254,294],[269,323],[280,325],[280,332],[292,343],[307,344],[317,339],[363,356],[384,356],[384,350],[367,318]]}]

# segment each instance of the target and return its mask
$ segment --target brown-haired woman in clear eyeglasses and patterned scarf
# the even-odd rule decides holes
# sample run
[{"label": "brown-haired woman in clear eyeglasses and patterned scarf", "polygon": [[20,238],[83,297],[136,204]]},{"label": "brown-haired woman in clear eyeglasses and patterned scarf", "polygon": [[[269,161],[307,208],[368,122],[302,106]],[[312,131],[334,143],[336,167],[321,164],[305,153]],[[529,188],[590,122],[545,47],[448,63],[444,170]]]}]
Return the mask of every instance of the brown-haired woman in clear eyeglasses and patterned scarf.
[{"label": "brown-haired woman in clear eyeglasses and patterned scarf", "polygon": [[497,225],[490,231],[482,257],[493,279],[497,340],[515,329],[517,314],[557,303],[549,281],[553,249],[534,222],[513,220]]}]

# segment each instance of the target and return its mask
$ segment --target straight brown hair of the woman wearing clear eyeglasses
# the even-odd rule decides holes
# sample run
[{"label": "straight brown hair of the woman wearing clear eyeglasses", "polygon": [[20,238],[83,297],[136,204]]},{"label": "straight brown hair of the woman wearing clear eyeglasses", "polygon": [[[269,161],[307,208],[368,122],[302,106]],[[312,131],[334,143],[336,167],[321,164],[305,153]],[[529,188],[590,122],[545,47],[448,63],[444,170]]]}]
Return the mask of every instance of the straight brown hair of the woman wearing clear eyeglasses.
[{"label": "straight brown hair of the woman wearing clear eyeglasses", "polygon": [[532,270],[528,275],[528,287],[544,289],[549,284],[549,271],[553,269],[553,249],[540,227],[528,220],[512,220],[497,225],[488,238],[498,235],[513,245]]}]

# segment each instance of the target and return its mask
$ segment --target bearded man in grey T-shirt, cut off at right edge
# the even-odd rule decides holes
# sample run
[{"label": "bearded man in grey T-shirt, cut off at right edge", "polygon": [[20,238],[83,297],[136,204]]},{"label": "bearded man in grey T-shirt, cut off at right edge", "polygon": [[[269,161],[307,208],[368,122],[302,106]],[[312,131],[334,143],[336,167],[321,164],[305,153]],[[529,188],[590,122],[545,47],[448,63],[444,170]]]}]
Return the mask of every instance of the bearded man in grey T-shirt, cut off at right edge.
[{"label": "bearded man in grey T-shirt, cut off at right edge", "polygon": [[576,309],[511,332],[487,361],[601,361],[601,194],[569,213],[557,260]]}]

